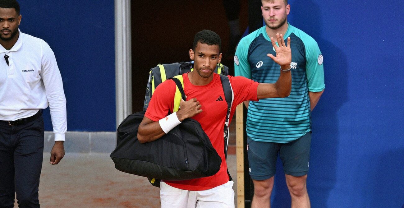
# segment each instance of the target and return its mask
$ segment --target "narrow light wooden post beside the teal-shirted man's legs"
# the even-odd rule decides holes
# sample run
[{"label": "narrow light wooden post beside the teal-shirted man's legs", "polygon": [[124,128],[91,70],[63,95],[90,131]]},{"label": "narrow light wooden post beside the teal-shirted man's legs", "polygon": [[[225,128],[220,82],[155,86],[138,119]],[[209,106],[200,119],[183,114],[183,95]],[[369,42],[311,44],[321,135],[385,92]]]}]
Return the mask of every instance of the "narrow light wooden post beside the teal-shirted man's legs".
[{"label": "narrow light wooden post beside the teal-shirted man's legs", "polygon": [[243,103],[236,107],[237,208],[244,208]]}]

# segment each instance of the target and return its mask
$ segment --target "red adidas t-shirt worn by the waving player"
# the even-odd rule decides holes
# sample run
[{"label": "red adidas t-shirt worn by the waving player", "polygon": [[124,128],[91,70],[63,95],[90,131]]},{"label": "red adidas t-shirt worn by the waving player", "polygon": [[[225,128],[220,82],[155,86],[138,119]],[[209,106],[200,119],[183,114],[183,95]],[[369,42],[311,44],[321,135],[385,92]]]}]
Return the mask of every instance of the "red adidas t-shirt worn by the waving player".
[{"label": "red adidas t-shirt worn by the waving player", "polygon": [[[188,74],[184,78],[184,92],[187,100],[196,98],[202,105],[202,112],[192,117],[197,120],[208,135],[213,147],[222,159],[219,172],[213,176],[185,181],[164,181],[170,186],[190,191],[201,191],[217,187],[229,181],[227,164],[224,154],[223,128],[227,113],[227,103],[219,74],[213,74],[213,80],[204,86],[191,84]],[[258,82],[237,76],[228,76],[234,92],[234,101],[230,111],[230,121],[236,111],[236,106],[243,101],[257,101]],[[175,82],[167,80],[159,84],[149,102],[145,116],[152,121],[158,121],[168,115],[174,107]],[[221,97],[221,99],[219,99]]]}]

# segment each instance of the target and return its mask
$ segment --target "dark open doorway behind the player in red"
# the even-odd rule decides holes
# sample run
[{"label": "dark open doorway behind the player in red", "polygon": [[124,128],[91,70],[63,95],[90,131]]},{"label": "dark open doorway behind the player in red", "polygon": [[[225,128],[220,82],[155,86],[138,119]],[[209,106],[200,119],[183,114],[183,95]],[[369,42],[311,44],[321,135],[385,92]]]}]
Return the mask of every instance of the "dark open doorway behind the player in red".
[{"label": "dark open doorway behind the player in red", "polygon": [[[240,30],[248,25],[247,2],[241,1]],[[234,74],[233,57],[226,55],[229,26],[221,1],[131,2],[133,112],[143,110],[149,69],[160,63],[189,61],[194,35],[210,29],[222,39],[222,63]]]}]

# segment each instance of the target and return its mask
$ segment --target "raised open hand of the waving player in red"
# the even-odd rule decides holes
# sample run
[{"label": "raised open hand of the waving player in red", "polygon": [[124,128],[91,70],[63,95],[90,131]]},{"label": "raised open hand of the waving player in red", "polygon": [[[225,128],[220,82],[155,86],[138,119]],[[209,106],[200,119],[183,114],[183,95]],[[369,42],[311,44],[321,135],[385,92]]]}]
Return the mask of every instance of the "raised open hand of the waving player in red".
[{"label": "raised open hand of the waving player in red", "polygon": [[268,53],[267,56],[279,64],[282,69],[289,69],[290,62],[292,61],[292,51],[290,50],[290,37],[288,37],[288,46],[285,45],[283,35],[277,33],[276,39],[278,40],[279,47],[276,45],[275,39],[271,38],[272,46],[276,51],[276,56]]}]

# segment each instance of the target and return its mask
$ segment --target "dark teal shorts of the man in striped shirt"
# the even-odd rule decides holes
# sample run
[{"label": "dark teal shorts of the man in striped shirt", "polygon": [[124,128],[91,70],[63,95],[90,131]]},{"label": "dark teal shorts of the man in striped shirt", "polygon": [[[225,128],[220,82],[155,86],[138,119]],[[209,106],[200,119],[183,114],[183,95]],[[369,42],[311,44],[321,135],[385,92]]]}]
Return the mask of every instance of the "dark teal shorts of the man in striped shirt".
[{"label": "dark teal shorts of the man in striped shirt", "polygon": [[247,137],[250,177],[257,181],[275,175],[278,154],[285,174],[304,176],[309,172],[311,132],[289,143],[253,141]]}]

